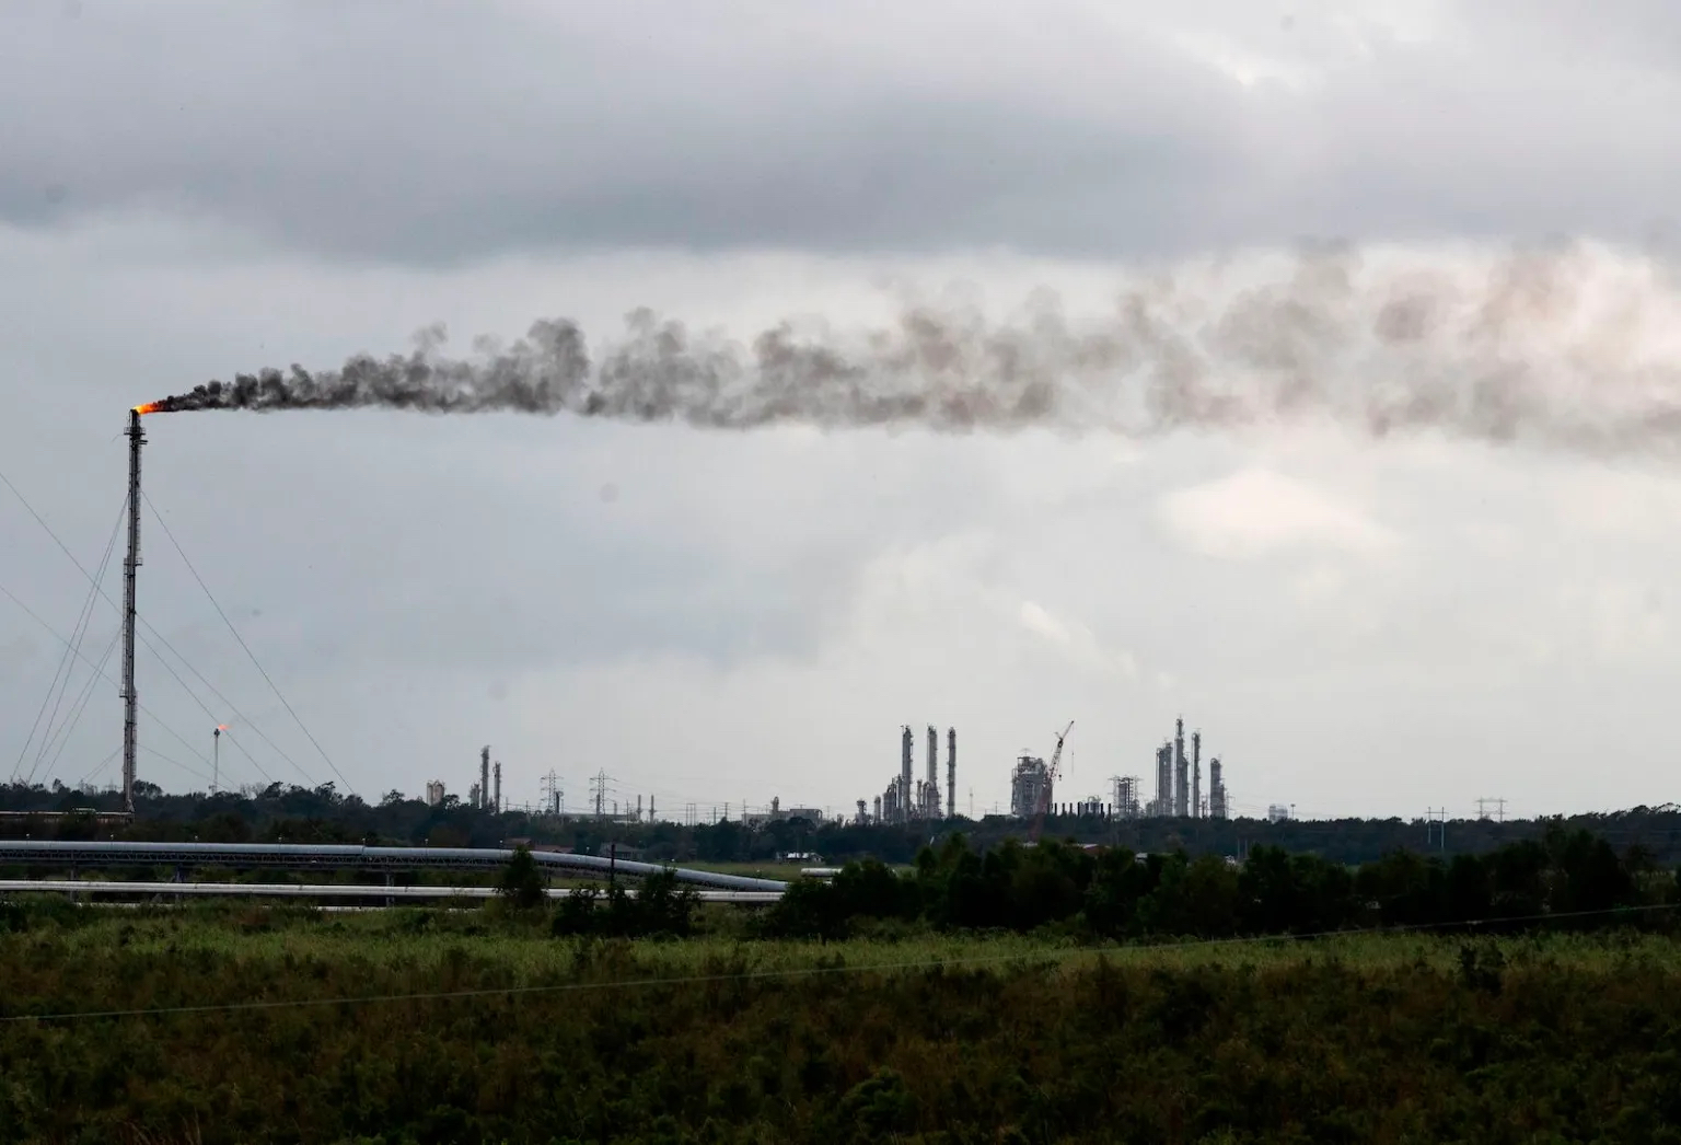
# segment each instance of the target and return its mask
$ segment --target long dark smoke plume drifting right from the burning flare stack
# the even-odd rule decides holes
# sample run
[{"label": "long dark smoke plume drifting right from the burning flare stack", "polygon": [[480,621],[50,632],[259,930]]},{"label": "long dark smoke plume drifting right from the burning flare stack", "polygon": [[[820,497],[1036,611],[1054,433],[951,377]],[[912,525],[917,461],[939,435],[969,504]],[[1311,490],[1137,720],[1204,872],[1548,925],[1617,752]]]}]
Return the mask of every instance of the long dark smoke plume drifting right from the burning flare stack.
[{"label": "long dark smoke plume drifting right from the burning flare stack", "polygon": [[1162,276],[1071,319],[1035,294],[1004,321],[908,306],[879,328],[785,321],[750,343],[635,311],[592,361],[583,333],[541,319],[513,346],[336,370],[262,370],[145,412],[390,407],[513,410],[751,429],[1054,427],[1150,435],[1331,420],[1383,435],[1585,452],[1681,446],[1681,289],[1652,259],[1562,244],[1499,257],[1323,247],[1271,272]]}]

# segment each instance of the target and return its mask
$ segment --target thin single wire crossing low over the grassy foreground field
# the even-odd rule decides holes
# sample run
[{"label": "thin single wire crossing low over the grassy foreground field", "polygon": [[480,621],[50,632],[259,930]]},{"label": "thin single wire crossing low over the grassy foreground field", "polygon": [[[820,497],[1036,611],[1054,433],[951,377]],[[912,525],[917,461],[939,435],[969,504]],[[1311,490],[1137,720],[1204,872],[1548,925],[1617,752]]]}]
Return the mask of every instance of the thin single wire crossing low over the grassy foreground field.
[{"label": "thin single wire crossing low over the grassy foreground field", "polygon": [[[370,893],[378,888],[368,888]],[[535,994],[577,994],[583,990],[620,990],[620,989],[639,989],[639,987],[662,987],[662,985],[706,985],[706,984],[723,984],[723,982],[753,982],[768,979],[802,979],[817,977],[825,974],[872,974],[883,970],[933,970],[945,967],[967,967],[967,965],[995,965],[1007,962],[1052,962],[1059,958],[1067,958],[1071,955],[1089,955],[1089,957],[1109,957],[1109,955],[1126,955],[1126,953],[1151,953],[1163,950],[1197,950],[1210,947],[1244,947],[1257,943],[1296,943],[1321,938],[1358,938],[1362,935],[1397,935],[1397,933],[1417,933],[1425,930],[1451,930],[1459,926],[1481,926],[1484,923],[1528,923],[1528,921],[1555,921],[1567,918],[1592,918],[1605,915],[1629,915],[1629,913],[1651,913],[1664,910],[1678,910],[1681,903],[1652,903],[1646,906],[1617,906],[1609,910],[1584,910],[1584,911],[1558,911],[1555,915],[1520,915],[1513,918],[1462,918],[1457,921],[1446,923],[1402,923],[1395,926],[1363,926],[1350,930],[1320,930],[1304,935],[1244,935],[1239,938],[1194,938],[1188,942],[1158,942],[1158,943],[1138,943],[1138,945],[1109,945],[1096,948],[1079,948],[1079,947],[1062,947],[1049,950],[1035,950],[1032,953],[1024,953],[1020,950],[1010,953],[997,955],[970,955],[962,958],[913,958],[903,962],[866,962],[866,963],[847,963],[847,965],[820,965],[820,967],[783,967],[778,970],[740,970],[736,974],[689,974],[689,975],[669,975],[656,979],[625,979],[622,982],[553,982],[548,985],[506,985],[506,987],[482,987],[474,990],[429,990],[429,992],[412,992],[412,994],[365,994],[360,997],[331,997],[331,999],[257,999],[249,1002],[205,1002],[200,1005],[158,1005],[143,1009],[126,1009],[126,1010],[66,1010],[57,1014],[0,1014],[0,1022],[69,1022],[69,1021],[87,1021],[87,1019],[114,1019],[114,1017],[168,1017],[175,1014],[235,1014],[249,1010],[281,1010],[281,1009],[306,1009],[319,1005],[373,1005],[382,1002],[444,1002],[454,999],[481,999],[481,997],[530,997]]]}]

